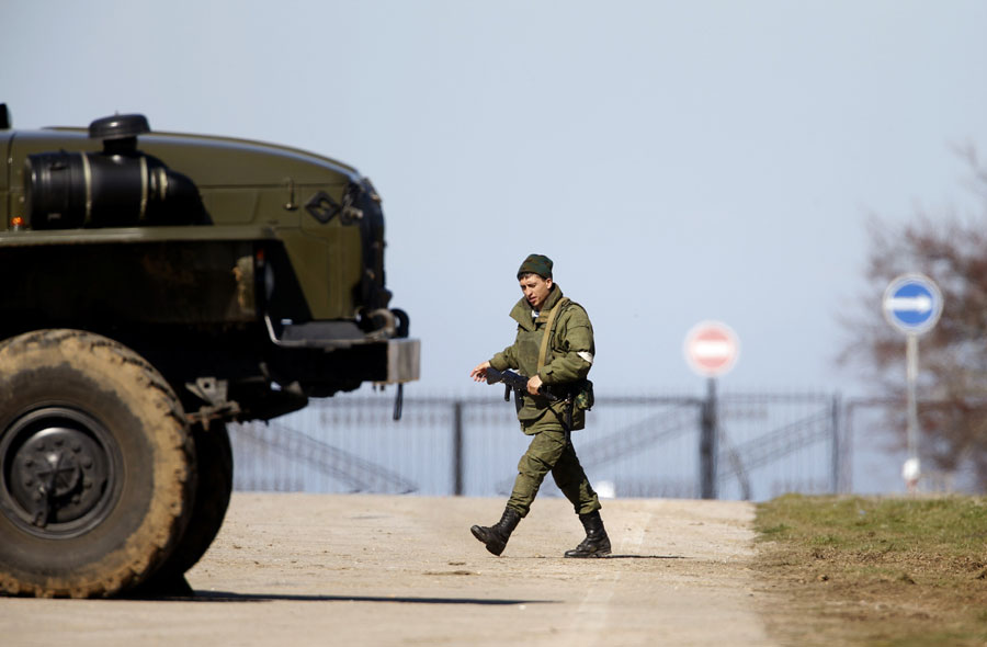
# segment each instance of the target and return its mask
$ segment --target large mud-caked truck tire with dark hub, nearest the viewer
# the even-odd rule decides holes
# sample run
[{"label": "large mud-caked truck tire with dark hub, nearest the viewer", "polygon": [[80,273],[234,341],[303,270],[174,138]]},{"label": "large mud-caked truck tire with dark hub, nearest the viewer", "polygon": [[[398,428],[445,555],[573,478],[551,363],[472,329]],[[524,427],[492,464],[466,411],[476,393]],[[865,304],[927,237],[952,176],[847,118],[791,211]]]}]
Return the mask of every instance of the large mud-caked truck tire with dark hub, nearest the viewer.
[{"label": "large mud-caked truck tire with dark hub, nearest the viewer", "polygon": [[0,591],[139,584],[182,536],[194,459],[174,391],[129,349],[79,330],[0,344]]}]

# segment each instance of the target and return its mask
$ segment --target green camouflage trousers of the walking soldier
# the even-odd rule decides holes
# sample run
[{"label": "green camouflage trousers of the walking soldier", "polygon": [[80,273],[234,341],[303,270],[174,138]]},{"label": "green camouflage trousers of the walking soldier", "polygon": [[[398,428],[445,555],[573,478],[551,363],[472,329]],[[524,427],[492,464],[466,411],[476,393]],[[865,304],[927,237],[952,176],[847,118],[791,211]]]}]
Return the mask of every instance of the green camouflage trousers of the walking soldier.
[{"label": "green camouflage trousers of the walking soldier", "polygon": [[576,449],[566,439],[563,423],[549,413],[524,431],[533,435],[527,451],[518,463],[518,478],[514,479],[514,489],[507,507],[521,517],[527,515],[542,481],[551,472],[555,485],[572,503],[577,514],[599,510],[600,498],[579,464]]}]

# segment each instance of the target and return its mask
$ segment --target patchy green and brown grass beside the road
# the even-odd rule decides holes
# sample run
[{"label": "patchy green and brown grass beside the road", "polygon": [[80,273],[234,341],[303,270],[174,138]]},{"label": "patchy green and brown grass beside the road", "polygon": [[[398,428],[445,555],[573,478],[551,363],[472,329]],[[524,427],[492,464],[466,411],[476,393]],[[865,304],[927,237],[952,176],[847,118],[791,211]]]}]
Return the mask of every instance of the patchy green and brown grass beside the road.
[{"label": "patchy green and brown grass beside the road", "polygon": [[782,644],[987,644],[987,498],[786,495],[755,527]]}]

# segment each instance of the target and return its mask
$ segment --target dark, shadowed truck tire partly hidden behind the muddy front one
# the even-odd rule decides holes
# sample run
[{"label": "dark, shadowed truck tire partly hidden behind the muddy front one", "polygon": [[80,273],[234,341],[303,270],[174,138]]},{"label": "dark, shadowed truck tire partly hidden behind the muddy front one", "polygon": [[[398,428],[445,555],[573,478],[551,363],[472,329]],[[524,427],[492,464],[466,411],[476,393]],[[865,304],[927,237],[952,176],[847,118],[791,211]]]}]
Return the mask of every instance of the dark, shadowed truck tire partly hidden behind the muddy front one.
[{"label": "dark, shadowed truck tire partly hidden behind the muddy front one", "polygon": [[232,493],[232,449],[226,424],[214,420],[206,429],[196,423],[192,438],[197,484],[189,525],[171,556],[138,587],[137,597],[194,594],[184,574],[205,555],[226,517]]}]

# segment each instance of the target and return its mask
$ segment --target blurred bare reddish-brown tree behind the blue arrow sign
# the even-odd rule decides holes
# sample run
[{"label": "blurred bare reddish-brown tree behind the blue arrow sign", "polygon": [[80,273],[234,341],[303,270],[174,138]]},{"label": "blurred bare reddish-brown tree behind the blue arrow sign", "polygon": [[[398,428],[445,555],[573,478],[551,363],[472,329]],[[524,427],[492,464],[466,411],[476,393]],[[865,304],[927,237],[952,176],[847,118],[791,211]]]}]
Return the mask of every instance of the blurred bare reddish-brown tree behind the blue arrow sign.
[{"label": "blurred bare reddish-brown tree behind the blue arrow sign", "polygon": [[920,454],[944,472],[972,468],[977,486],[987,491],[987,170],[973,149],[962,152],[982,213],[965,218],[918,213],[904,225],[871,220],[869,295],[846,322],[852,341],[842,360],[862,370],[872,395],[901,402],[889,409],[887,424],[904,438],[905,339],[884,320],[880,295],[906,272],[935,281],[944,308],[920,342]]}]

